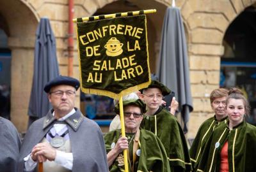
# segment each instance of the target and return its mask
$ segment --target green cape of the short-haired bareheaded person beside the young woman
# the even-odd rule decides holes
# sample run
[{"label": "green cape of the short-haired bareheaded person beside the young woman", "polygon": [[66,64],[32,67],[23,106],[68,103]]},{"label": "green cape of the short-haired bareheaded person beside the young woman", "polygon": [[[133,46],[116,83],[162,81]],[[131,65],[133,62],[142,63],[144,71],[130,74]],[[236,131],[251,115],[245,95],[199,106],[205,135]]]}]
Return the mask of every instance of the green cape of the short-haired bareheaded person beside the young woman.
[{"label": "green cape of the short-haired bareheaded person beside the young woman", "polygon": [[212,131],[219,125],[226,123],[227,117],[218,122],[216,115],[214,115],[214,117],[205,120],[205,122],[203,122],[203,124],[199,127],[195,140],[193,141],[189,150],[193,171],[196,171],[198,162],[200,161],[202,152],[204,150],[205,143],[211,136]]}]

